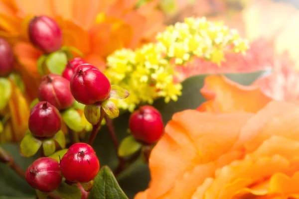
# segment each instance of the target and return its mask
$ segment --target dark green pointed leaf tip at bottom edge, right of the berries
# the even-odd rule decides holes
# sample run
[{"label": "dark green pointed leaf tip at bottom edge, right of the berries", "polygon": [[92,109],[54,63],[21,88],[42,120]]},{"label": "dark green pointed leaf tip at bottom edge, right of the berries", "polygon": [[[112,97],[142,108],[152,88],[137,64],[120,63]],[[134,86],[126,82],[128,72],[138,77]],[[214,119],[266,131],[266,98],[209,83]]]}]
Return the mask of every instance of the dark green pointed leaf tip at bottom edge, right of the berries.
[{"label": "dark green pointed leaf tip at bottom edge, right of the berries", "polygon": [[88,199],[128,199],[108,166],[102,167],[95,178]]}]

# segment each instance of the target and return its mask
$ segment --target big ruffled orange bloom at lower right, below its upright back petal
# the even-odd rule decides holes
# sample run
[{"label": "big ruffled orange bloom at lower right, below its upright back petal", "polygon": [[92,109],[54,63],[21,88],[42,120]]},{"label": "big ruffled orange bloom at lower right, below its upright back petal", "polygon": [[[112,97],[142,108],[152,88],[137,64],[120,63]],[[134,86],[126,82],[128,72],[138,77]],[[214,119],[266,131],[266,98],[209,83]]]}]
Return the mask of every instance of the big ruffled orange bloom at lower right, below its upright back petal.
[{"label": "big ruffled orange bloom at lower right, below its upright back petal", "polygon": [[298,198],[298,117],[298,105],[277,101],[257,113],[175,113],[135,199]]}]

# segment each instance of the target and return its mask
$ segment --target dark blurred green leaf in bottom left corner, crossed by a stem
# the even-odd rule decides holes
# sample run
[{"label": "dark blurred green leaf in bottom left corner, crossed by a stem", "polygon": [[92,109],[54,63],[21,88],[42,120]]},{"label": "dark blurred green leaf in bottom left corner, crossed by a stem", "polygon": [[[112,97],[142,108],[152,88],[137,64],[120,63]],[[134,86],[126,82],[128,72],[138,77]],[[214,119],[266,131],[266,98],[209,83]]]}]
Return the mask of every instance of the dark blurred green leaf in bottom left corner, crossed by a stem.
[{"label": "dark blurred green leaf in bottom left corner, crossed by a stem", "polygon": [[[13,157],[23,171],[38,157],[26,158],[20,155],[19,144],[5,143],[1,147]],[[29,186],[24,178],[17,175],[6,164],[0,163],[0,199],[27,199],[35,196],[35,190]],[[6,196],[6,197],[4,197]]]}]

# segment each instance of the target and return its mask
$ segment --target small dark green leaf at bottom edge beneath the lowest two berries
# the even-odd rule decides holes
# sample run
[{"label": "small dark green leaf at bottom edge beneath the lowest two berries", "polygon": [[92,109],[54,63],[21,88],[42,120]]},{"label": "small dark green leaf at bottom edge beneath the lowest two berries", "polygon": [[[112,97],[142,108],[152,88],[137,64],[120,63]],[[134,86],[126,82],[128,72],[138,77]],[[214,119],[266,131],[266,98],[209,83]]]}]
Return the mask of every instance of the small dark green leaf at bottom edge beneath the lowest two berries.
[{"label": "small dark green leaf at bottom edge beneath the lowest two berries", "polygon": [[56,192],[63,199],[81,199],[82,193],[76,184],[68,185],[65,182],[61,183]]}]

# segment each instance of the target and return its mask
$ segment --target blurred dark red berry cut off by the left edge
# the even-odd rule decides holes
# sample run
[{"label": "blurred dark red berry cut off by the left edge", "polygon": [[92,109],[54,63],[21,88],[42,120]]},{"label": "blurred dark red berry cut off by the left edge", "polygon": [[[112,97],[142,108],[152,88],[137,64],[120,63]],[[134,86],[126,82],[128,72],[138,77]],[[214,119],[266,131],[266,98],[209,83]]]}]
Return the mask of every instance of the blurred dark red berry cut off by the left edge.
[{"label": "blurred dark red berry cut off by the left edge", "polygon": [[13,53],[10,45],[0,38],[0,76],[8,75],[13,69]]}]

